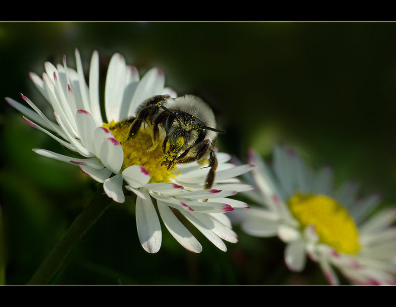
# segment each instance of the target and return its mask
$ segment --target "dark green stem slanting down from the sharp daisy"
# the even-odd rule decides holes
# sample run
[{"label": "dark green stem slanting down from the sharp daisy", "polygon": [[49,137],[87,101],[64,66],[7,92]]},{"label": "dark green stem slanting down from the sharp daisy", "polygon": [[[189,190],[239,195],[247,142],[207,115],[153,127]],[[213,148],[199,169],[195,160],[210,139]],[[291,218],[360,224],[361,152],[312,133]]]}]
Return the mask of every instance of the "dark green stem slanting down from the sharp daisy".
[{"label": "dark green stem slanting down from the sharp daisy", "polygon": [[111,201],[112,199],[107,197],[103,192],[102,187],[100,187],[95,193],[91,203],[85,207],[80,215],[75,219],[73,224],[63,235],[62,239],[56,244],[47,256],[46,260],[29,280],[28,285],[49,284],[74,246],[109,207]]}]

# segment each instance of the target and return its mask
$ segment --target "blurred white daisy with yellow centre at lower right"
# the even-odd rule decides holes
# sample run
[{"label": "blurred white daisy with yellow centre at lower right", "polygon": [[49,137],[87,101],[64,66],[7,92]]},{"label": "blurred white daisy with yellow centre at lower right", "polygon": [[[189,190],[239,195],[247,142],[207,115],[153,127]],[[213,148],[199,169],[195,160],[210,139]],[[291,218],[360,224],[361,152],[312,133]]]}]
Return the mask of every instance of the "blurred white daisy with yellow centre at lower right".
[{"label": "blurred white daisy with yellow centre at lower right", "polygon": [[334,268],[353,284],[396,284],[396,208],[369,217],[379,204],[377,195],[357,199],[357,186],[350,182],[333,190],[329,168],[313,173],[281,147],[273,159],[271,171],[249,152],[257,190],[248,195],[265,209],[241,211],[242,229],[254,236],[277,235],[287,244],[289,269],[304,269],[308,256],[332,285],[339,284]]}]

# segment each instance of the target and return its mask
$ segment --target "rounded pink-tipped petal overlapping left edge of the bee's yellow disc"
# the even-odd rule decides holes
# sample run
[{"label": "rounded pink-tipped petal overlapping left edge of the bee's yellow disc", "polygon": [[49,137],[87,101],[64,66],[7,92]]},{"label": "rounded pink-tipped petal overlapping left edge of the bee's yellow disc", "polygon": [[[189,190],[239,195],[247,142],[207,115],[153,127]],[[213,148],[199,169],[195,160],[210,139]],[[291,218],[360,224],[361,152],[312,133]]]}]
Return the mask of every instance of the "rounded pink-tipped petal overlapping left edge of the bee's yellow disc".
[{"label": "rounded pink-tipped petal overlapping left edge of the bee's yellow disc", "polygon": [[121,144],[114,138],[105,139],[100,146],[99,157],[105,167],[117,174],[124,161]]}]

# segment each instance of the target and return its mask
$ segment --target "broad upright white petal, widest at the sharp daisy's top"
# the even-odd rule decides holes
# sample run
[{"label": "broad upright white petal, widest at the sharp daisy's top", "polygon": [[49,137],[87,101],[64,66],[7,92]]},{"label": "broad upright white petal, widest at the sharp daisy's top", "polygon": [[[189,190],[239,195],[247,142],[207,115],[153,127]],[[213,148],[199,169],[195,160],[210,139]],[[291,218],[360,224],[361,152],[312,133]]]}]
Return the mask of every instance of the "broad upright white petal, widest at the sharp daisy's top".
[{"label": "broad upright white petal, widest at the sharp daisy's top", "polygon": [[115,53],[110,60],[104,88],[104,107],[107,122],[118,121],[122,97],[124,95],[126,64],[124,57]]}]

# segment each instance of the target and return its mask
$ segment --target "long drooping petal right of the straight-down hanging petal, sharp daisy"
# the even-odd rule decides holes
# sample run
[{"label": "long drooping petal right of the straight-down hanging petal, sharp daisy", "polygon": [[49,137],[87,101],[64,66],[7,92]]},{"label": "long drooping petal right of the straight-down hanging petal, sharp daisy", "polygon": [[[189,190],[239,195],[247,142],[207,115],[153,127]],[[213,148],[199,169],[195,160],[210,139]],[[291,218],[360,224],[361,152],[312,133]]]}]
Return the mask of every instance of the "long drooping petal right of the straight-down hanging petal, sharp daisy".
[{"label": "long drooping petal right of the straight-down hanging petal, sharp daisy", "polygon": [[185,249],[193,253],[200,253],[202,251],[202,246],[194,235],[187,230],[187,228],[179,221],[165,203],[157,201],[157,204],[159,214],[161,215],[165,227],[169,230],[170,234],[172,234],[176,241],[178,241]]}]

